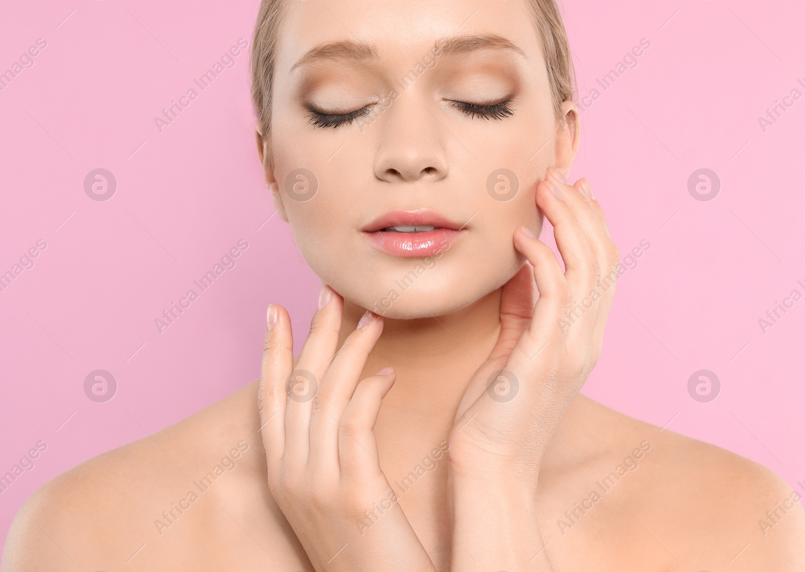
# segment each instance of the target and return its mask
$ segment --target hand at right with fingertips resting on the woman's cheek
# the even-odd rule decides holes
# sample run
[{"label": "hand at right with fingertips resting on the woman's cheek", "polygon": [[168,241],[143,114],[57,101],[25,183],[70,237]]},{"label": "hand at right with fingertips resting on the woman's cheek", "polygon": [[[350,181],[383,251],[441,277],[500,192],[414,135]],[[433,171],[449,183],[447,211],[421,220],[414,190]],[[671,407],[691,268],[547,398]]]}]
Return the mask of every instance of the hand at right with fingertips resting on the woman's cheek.
[{"label": "hand at right with fingertips resting on the woman's cheek", "polygon": [[490,479],[529,475],[535,484],[548,442],[597,363],[620,256],[601,207],[585,189],[585,179],[571,185],[555,167],[537,187],[536,203],[554,226],[564,273],[545,243],[524,227],[514,233],[533,274],[524,265],[503,288],[500,336],[470,382],[450,434],[455,478],[484,471]]}]

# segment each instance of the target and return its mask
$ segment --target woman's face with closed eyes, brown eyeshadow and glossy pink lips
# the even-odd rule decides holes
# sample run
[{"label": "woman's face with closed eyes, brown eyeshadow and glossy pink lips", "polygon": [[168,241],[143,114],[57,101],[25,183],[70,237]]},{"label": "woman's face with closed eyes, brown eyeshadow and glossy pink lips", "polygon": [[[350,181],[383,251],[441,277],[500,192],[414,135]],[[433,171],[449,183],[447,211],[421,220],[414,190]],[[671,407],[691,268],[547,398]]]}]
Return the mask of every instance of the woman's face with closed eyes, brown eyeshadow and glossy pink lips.
[{"label": "woman's face with closed eyes, brown eyeshadow and glossy pink lips", "polygon": [[522,265],[514,230],[539,235],[536,185],[577,139],[526,2],[286,0],[266,181],[347,300],[444,315]]}]

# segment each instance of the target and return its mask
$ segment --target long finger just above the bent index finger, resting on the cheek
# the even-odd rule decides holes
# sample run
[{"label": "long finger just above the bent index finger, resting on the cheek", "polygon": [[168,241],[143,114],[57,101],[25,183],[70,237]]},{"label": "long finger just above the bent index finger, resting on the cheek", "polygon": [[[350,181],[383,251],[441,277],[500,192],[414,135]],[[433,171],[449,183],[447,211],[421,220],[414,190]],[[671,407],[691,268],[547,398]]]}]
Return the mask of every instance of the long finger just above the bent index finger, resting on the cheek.
[{"label": "long finger just above the bent index finger, resting on the cheek", "polygon": [[[595,282],[594,258],[572,204],[565,200],[567,185],[548,175],[537,186],[536,203],[554,227],[559,254],[574,294],[588,290]],[[583,294],[582,294],[583,295]]]}]

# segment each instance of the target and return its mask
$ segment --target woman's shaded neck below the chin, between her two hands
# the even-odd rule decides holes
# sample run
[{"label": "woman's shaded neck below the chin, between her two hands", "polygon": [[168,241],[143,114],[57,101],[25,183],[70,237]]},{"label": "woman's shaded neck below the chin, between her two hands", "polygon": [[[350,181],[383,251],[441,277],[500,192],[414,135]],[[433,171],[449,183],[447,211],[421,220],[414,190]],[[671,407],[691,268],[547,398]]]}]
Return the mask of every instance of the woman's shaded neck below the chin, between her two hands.
[{"label": "woman's shaded neck below the chin, between her two hands", "polygon": [[[429,426],[437,434],[449,431],[464,389],[497,341],[500,296],[501,290],[494,290],[469,307],[438,317],[384,318],[383,333],[361,375],[371,376],[386,366],[396,372],[378,430],[402,423]],[[364,311],[345,302],[342,342]]]}]

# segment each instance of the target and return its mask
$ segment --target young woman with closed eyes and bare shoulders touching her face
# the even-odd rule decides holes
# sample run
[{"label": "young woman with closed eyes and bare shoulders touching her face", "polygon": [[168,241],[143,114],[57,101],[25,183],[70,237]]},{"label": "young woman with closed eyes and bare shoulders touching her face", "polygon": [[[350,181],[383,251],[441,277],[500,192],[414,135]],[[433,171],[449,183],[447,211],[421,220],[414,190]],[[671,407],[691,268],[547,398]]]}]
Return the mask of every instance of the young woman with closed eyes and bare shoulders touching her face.
[{"label": "young woman with closed eyes and bare shoulders touching her face", "polygon": [[39,489],[4,572],[805,570],[782,479],[579,393],[619,255],[554,0],[265,0],[253,72],[308,339],[270,305],[261,379]]}]

